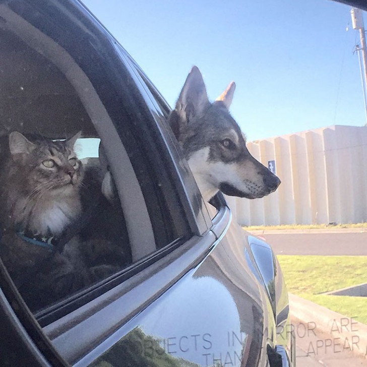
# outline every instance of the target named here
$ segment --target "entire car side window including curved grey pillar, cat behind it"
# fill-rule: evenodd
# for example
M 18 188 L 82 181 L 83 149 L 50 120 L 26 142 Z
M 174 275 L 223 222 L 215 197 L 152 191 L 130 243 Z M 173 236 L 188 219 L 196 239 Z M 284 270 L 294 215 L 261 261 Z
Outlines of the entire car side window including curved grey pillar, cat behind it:
M 83 69 L 24 19 L 4 16 L 0 256 L 29 309 L 57 317 L 60 305 L 80 305 L 192 236 L 193 225 L 162 150 L 148 152 L 159 145 L 142 126 L 150 111 L 112 93 L 103 63 Z

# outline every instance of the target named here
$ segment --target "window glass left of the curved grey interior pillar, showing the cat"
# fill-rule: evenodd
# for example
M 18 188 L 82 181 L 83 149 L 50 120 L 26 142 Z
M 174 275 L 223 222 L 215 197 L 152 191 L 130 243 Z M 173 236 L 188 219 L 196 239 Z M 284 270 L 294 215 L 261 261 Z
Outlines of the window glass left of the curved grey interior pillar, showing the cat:
M 133 260 L 108 142 L 52 63 L 10 32 L 2 39 L 18 47 L 7 53 L 7 75 L 20 62 L 24 72 L 2 82 L 0 254 L 38 311 Z

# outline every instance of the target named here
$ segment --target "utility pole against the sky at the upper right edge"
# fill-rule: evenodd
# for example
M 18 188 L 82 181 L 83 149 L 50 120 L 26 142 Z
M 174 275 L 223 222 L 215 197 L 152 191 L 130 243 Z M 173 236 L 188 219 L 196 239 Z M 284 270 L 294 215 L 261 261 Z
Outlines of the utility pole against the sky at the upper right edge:
M 366 115 L 366 126 L 367 126 L 367 101 L 366 101 L 366 95 L 365 95 L 366 87 L 367 87 L 367 48 L 366 48 L 366 43 L 365 43 L 363 15 L 362 15 L 362 11 L 357 8 L 353 8 L 350 11 L 350 14 L 352 16 L 353 29 L 357 29 L 359 31 L 359 37 L 360 37 L 361 46 L 357 45 L 356 50 L 358 52 L 358 58 L 359 58 L 359 67 L 360 67 L 362 87 L 363 87 L 364 110 L 365 110 L 365 115 Z M 360 54 L 362 54 L 363 70 L 362 70 L 362 65 L 360 61 Z

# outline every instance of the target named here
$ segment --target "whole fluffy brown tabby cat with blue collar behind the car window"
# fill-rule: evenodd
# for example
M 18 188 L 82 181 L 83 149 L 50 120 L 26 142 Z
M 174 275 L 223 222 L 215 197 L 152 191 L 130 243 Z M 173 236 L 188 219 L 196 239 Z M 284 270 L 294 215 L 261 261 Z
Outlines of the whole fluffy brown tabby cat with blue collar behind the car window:
M 88 277 L 57 249 L 57 237 L 81 215 L 84 168 L 74 151 L 80 136 L 52 141 L 12 132 L 1 147 L 0 255 L 31 309 L 83 287 Z

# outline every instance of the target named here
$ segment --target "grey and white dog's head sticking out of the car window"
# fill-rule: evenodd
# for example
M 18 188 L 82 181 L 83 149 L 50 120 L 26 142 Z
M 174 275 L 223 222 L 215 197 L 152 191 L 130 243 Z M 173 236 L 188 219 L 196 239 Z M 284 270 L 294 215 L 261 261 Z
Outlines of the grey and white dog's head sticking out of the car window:
M 240 198 L 262 198 L 273 193 L 280 179 L 258 162 L 229 113 L 235 83 L 209 102 L 197 67 L 189 73 L 169 125 L 206 202 L 218 192 Z

